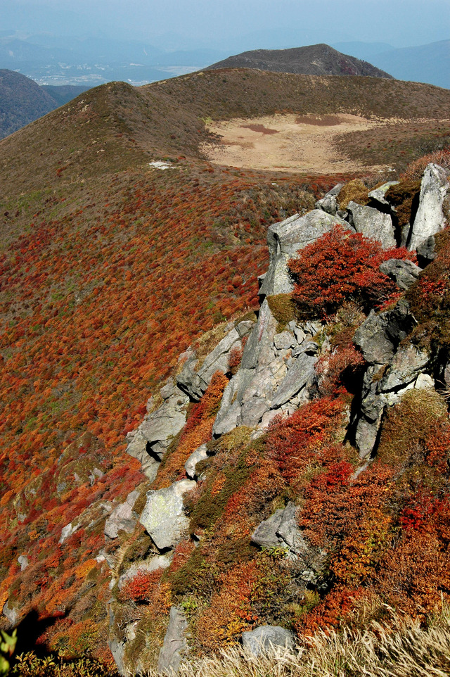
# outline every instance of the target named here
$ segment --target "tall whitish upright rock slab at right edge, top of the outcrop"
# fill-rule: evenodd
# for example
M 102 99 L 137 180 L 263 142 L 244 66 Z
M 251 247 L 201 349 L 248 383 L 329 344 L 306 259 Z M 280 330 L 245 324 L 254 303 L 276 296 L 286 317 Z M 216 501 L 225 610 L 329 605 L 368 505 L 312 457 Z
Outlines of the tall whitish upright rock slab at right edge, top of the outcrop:
M 411 229 L 410 250 L 417 249 L 431 235 L 444 228 L 442 205 L 449 189 L 449 175 L 443 167 L 430 163 L 423 172 L 419 206 Z

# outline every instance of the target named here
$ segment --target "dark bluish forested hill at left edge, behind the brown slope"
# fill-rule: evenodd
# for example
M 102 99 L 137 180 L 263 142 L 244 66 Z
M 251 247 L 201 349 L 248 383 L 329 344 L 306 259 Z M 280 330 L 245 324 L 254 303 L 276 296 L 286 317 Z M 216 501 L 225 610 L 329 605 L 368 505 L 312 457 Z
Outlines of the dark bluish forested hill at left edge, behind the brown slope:
M 86 87 L 39 87 L 29 77 L 0 70 L 0 139 L 63 106 Z

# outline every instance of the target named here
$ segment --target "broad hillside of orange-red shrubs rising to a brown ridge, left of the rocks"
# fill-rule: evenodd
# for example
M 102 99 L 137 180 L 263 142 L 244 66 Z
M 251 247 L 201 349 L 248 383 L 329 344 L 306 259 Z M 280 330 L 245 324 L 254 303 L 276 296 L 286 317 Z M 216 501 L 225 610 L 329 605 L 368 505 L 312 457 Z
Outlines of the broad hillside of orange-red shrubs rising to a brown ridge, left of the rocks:
M 391 89 L 360 110 L 374 82 Z M 124 435 L 188 343 L 255 303 L 268 225 L 314 201 L 302 190 L 312 177 L 203 163 L 200 118 L 383 115 L 401 91 L 399 117 L 423 113 L 419 94 L 429 115 L 450 117 L 444 90 L 364 78 L 354 87 L 234 70 L 138 90 L 112 83 L 1 142 L 0 603 L 59 617 L 42 635 L 53 648 L 108 657 L 108 569 L 94 559 L 101 502 L 143 479 L 124 458 Z M 148 169 L 165 156 L 174 170 Z M 91 486 L 94 467 L 104 475 Z M 62 527 L 86 508 L 84 526 L 59 547 Z

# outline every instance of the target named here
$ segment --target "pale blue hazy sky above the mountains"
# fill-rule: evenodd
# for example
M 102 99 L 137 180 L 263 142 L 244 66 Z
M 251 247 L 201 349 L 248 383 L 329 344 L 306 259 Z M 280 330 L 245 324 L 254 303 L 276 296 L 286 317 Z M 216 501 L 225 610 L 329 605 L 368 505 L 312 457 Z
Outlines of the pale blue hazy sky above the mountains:
M 450 0 L 0 0 L 0 9 L 3 30 L 167 40 L 170 49 L 450 38 Z

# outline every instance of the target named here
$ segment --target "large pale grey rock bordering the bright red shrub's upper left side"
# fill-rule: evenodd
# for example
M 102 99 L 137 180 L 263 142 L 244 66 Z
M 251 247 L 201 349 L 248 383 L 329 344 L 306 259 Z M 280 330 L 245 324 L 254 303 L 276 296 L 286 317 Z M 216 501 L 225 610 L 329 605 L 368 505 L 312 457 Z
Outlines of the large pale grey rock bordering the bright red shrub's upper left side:
M 302 217 L 295 214 L 269 227 L 267 233 L 269 270 L 264 276 L 259 294 L 271 296 L 292 291 L 293 283 L 286 265 L 288 260 L 293 258 L 299 249 L 330 231 L 336 223 L 340 223 L 346 229 L 352 229 L 340 217 L 331 216 L 320 209 L 314 209 Z

